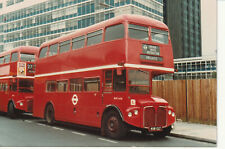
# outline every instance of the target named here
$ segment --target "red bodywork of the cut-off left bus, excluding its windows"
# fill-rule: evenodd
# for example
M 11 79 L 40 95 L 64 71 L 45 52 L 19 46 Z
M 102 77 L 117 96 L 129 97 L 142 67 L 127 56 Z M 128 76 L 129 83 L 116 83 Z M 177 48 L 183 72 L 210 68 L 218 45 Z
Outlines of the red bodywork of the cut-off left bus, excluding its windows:
M 18 53 L 18 59 L 13 62 L 11 62 L 12 53 Z M 9 62 L 0 64 L 0 111 L 7 112 L 11 101 L 17 110 L 24 112 L 33 110 L 33 93 L 20 88 L 19 82 L 34 80 L 35 62 L 21 60 L 21 53 L 34 54 L 36 59 L 38 47 L 21 46 L 0 54 L 0 58 L 10 56 Z

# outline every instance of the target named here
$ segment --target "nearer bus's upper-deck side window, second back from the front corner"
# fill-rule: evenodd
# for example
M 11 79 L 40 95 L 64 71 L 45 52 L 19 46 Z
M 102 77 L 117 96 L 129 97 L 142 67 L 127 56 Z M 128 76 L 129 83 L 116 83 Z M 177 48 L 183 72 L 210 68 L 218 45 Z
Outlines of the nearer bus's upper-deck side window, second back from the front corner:
M 87 46 L 100 43 L 102 41 L 102 30 L 87 34 Z

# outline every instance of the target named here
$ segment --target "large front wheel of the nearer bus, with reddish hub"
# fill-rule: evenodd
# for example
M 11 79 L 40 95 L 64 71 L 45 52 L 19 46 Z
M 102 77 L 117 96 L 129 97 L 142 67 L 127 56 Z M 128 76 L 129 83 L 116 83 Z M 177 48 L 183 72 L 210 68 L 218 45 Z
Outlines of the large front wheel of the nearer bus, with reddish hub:
M 127 134 L 127 126 L 118 112 L 107 112 L 103 120 L 103 126 L 105 135 L 112 139 L 121 139 Z

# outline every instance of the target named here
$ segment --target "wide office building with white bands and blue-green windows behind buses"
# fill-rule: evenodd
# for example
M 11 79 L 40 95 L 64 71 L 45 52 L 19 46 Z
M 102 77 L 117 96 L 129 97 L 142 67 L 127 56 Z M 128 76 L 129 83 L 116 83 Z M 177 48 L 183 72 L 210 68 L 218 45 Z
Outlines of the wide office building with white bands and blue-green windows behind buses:
M 24 45 L 40 46 L 45 41 L 125 13 L 163 21 L 163 1 L 40 0 L 34 4 L 30 0 L 1 0 L 0 51 Z

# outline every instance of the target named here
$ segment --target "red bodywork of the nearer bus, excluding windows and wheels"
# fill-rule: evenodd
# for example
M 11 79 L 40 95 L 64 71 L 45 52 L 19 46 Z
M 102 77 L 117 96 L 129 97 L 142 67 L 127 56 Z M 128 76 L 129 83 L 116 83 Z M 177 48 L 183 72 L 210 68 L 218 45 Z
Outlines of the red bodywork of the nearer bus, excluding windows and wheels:
M 106 27 L 122 23 L 125 28 L 125 36 L 122 39 L 104 42 Z M 144 16 L 122 15 L 102 23 L 77 30 L 76 32 L 54 39 L 41 45 L 42 48 L 49 47 L 55 43 L 90 32 L 103 29 L 103 39 L 99 44 L 85 46 L 77 50 L 70 50 L 54 56 L 39 58 L 36 63 L 34 111 L 33 115 L 44 118 L 45 108 L 51 103 L 55 111 L 55 119 L 78 123 L 88 126 L 101 127 L 102 116 L 108 108 L 117 109 L 122 119 L 130 125 L 138 128 L 152 127 L 165 128 L 175 122 L 173 108 L 164 99 L 152 96 L 151 80 L 154 76 L 174 72 L 173 53 L 170 38 L 168 44 L 160 44 L 151 41 L 132 39 L 128 36 L 128 24 L 147 26 L 149 30 L 154 27 L 168 31 L 168 27 L 159 21 Z M 149 37 L 151 37 L 149 33 Z M 87 43 L 87 38 L 85 38 Z M 160 47 L 160 56 L 163 61 L 150 61 L 140 59 L 143 54 L 142 45 L 149 44 Z M 71 47 L 71 44 L 70 44 Z M 146 54 L 147 55 L 147 54 Z M 126 73 L 126 90 L 105 91 L 104 72 L 116 70 L 118 75 L 126 70 L 143 70 L 149 72 L 150 89 L 148 94 L 129 93 L 128 73 Z M 70 91 L 71 78 L 99 78 L 99 91 Z M 67 81 L 65 92 L 47 92 L 46 82 Z M 83 82 L 84 84 L 84 82 Z M 76 99 L 76 104 L 73 104 Z M 134 111 L 138 110 L 135 115 Z M 132 116 L 129 117 L 128 113 Z M 160 130 L 158 130 L 160 131 Z

